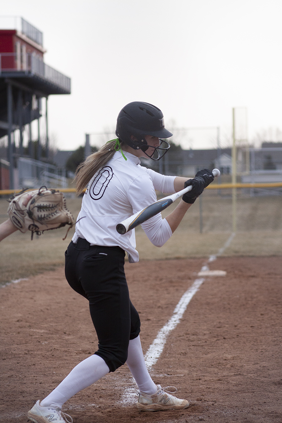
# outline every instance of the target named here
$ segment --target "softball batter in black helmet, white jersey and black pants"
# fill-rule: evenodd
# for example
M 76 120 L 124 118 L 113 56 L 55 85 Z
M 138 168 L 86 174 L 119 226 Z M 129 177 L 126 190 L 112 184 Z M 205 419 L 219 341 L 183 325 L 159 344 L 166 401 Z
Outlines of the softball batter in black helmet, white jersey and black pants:
M 155 190 L 171 193 L 192 184 L 193 189 L 165 219 L 157 214 L 142 224 L 150 241 L 161 247 L 184 214 L 213 179 L 200 171 L 194 179 L 163 176 L 140 166 L 140 157 L 160 159 L 170 147 L 172 133 L 164 128 L 161 110 L 132 102 L 119 113 L 117 139 L 91 154 L 77 172 L 77 192 L 85 185 L 76 232 L 66 251 L 66 279 L 89 301 L 98 335 L 98 350 L 79 363 L 46 398 L 28 412 L 34 423 L 71 421 L 60 410 L 73 395 L 126 363 L 139 388 L 137 408 L 144 411 L 185 409 L 189 402 L 156 385 L 145 365 L 139 337 L 140 319 L 129 299 L 124 257 L 136 263 L 134 230 L 125 235 L 116 225 L 156 201 Z M 68 420 L 70 418 L 71 420 Z

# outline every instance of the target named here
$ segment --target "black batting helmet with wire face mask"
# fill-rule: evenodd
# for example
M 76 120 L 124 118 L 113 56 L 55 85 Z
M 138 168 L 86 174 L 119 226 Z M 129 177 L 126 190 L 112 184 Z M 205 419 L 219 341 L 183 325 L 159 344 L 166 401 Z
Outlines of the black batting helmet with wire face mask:
M 120 111 L 117 119 L 115 134 L 118 138 L 134 150 L 141 149 L 150 159 L 159 160 L 170 148 L 169 143 L 160 140 L 160 146 L 148 145 L 145 135 L 158 138 L 168 138 L 172 133 L 164 128 L 162 111 L 150 103 L 132 102 L 126 104 Z M 147 154 L 149 147 L 153 153 Z

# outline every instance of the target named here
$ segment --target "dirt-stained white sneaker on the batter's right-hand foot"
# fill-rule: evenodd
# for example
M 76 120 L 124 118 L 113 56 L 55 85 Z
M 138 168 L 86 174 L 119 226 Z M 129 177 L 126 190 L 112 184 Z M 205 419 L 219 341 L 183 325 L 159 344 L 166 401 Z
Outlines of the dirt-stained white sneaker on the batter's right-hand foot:
M 143 392 L 139 393 L 137 408 L 142 411 L 157 411 L 157 410 L 181 410 L 189 407 L 189 401 L 186 399 L 178 399 L 171 394 L 177 393 L 175 386 L 167 386 L 162 388 L 157 385 L 157 392 L 153 395 L 147 395 Z M 168 389 L 173 389 L 170 391 Z

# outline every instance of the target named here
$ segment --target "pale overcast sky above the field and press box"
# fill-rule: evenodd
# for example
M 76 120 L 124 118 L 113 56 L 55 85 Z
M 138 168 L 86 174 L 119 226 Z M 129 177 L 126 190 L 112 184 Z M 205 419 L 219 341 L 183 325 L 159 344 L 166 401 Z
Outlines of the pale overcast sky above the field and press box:
M 44 61 L 71 77 L 71 95 L 49 97 L 61 150 L 112 129 L 137 100 L 168 129 L 219 126 L 222 144 L 233 107 L 247 108 L 250 140 L 282 129 L 281 0 L 13 0 L 1 15 L 41 30 Z M 215 129 L 195 132 L 178 137 L 184 147 L 215 146 Z

